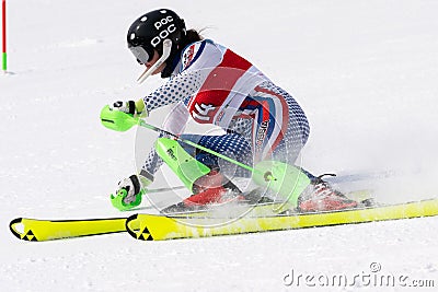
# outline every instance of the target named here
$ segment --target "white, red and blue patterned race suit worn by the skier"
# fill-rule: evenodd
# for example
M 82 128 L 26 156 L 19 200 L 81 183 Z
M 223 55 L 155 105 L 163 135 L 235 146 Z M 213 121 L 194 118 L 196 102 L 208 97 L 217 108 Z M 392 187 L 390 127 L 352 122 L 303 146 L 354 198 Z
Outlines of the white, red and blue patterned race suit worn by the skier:
M 185 139 L 249 165 L 262 160 L 295 163 L 308 140 L 309 124 L 291 95 L 247 60 L 209 39 L 187 46 L 177 61 L 173 77 L 143 98 L 148 112 L 174 104 L 163 124 L 165 130 L 182 135 L 192 117 L 219 126 L 224 133 L 182 135 Z M 183 147 L 226 175 L 250 175 L 211 154 Z M 152 150 L 141 173 L 153 178 L 161 164 Z

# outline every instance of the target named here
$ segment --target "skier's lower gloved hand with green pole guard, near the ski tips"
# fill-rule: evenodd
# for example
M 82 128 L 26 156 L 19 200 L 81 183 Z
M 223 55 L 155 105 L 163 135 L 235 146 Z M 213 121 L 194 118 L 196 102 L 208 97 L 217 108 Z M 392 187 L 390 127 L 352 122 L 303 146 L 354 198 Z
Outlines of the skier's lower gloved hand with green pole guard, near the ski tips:
M 131 175 L 117 185 L 116 196 L 111 195 L 112 205 L 120 211 L 127 211 L 141 203 L 141 196 L 152 182 L 141 175 Z

